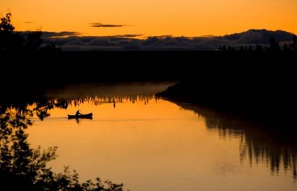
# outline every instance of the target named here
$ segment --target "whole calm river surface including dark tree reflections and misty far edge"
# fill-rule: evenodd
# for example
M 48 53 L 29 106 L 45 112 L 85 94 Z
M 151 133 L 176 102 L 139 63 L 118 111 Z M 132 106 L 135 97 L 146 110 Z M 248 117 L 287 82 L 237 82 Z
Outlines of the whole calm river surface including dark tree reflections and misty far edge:
M 36 148 L 81 180 L 97 176 L 129 190 L 297 190 L 296 140 L 195 105 L 156 100 L 168 83 L 85 85 L 49 97 L 69 107 L 28 129 Z M 76 110 L 93 120 L 68 120 Z M 281 137 L 281 138 L 280 138 Z

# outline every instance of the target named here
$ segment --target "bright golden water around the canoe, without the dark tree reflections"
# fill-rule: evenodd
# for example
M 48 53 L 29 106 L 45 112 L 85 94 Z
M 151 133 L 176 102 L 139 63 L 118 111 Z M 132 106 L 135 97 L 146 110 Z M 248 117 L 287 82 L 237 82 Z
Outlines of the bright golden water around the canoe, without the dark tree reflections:
M 66 115 L 93 112 L 93 120 Z M 50 110 L 28 130 L 33 146 L 58 146 L 55 172 L 70 166 L 81 180 L 99 176 L 129 190 L 294 190 L 290 173 L 240 160 L 240 136 L 209 131 L 204 117 L 166 100 L 81 103 Z M 252 184 L 250 184 L 252 182 Z

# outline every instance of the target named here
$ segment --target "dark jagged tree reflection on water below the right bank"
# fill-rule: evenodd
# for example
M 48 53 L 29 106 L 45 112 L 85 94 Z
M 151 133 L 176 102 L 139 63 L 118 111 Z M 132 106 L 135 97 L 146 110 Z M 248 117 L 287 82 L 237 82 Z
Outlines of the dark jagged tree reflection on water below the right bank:
M 297 139 L 293 127 L 267 127 L 197 105 L 177 105 L 205 117 L 206 127 L 219 132 L 221 138 L 240 137 L 240 161 L 248 158 L 251 164 L 267 163 L 276 175 L 282 166 L 297 180 Z

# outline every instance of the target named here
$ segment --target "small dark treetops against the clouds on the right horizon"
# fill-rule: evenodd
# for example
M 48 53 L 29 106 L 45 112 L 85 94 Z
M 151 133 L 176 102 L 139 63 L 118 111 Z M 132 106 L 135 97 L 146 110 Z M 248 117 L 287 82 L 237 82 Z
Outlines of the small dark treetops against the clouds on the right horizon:
M 287 45 L 286 43 L 284 44 L 284 47 L 281 48 L 281 46 L 279 45 L 279 42 L 276 41 L 276 39 L 274 37 L 271 37 L 269 40 L 269 46 L 266 45 L 256 45 L 256 46 L 240 46 L 239 49 L 236 49 L 235 47 L 232 46 L 226 46 L 224 45 L 223 47 L 220 47 L 219 50 L 223 51 L 223 52 L 235 52 L 235 51 L 239 51 L 239 52 L 263 52 L 263 51 L 268 51 L 268 52 L 280 52 L 280 51 L 284 51 L 284 52 L 288 52 L 288 51 L 297 51 L 297 36 L 293 35 L 292 37 L 292 43 L 290 45 Z

